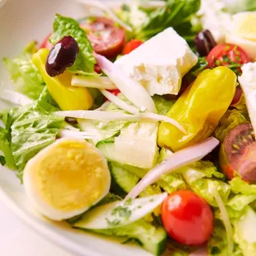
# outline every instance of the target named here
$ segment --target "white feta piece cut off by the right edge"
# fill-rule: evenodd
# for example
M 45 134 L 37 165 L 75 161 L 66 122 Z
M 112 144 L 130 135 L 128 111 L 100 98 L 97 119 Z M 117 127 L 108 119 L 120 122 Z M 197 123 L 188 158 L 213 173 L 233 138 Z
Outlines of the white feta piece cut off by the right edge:
M 244 64 L 242 71 L 239 83 L 243 88 L 249 117 L 256 132 L 256 63 Z

